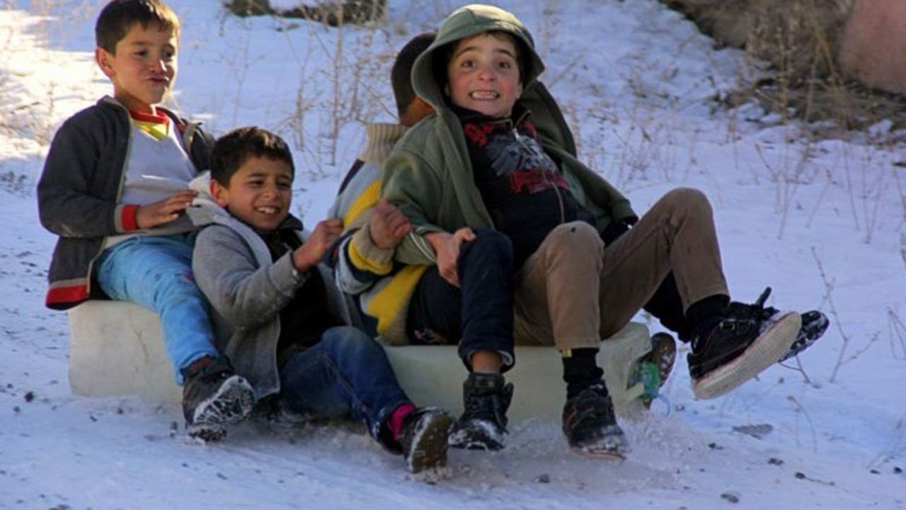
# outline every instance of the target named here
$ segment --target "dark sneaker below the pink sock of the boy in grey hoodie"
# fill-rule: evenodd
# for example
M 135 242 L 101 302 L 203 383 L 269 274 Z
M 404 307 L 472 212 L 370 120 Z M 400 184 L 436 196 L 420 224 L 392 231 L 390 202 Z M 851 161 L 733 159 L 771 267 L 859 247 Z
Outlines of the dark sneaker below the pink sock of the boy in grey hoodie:
M 412 473 L 447 466 L 447 440 L 453 417 L 438 407 L 421 407 L 403 417 L 400 446 Z

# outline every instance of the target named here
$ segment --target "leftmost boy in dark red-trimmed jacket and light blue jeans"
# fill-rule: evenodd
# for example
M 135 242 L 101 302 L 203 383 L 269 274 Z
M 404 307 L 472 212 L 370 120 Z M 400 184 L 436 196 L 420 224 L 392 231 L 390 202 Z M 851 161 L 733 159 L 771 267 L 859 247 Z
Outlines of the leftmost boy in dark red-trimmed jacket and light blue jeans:
M 158 106 L 176 80 L 179 20 L 159 0 L 114 0 L 95 34 L 113 97 L 63 123 L 38 182 L 41 222 L 60 237 L 47 306 L 119 299 L 158 313 L 188 433 L 217 439 L 249 414 L 252 391 L 218 353 L 192 277 L 188 182 L 211 142 Z

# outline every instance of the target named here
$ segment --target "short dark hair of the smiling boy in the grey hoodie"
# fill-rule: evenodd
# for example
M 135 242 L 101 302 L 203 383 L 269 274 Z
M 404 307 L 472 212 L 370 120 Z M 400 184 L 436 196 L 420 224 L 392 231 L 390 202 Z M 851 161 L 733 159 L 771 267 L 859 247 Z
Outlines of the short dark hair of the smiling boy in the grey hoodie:
M 249 158 L 285 162 L 295 174 L 293 153 L 283 138 L 256 126 L 246 126 L 226 132 L 214 142 L 211 179 L 228 188 L 230 178 Z

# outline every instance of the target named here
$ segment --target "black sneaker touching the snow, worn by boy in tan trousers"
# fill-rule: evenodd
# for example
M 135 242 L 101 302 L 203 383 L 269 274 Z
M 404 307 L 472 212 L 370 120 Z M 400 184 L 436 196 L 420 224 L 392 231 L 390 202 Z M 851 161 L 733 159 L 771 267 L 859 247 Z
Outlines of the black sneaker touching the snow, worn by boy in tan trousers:
M 566 442 L 579 455 L 623 459 L 629 449 L 603 384 L 587 387 L 566 401 L 563 427 Z

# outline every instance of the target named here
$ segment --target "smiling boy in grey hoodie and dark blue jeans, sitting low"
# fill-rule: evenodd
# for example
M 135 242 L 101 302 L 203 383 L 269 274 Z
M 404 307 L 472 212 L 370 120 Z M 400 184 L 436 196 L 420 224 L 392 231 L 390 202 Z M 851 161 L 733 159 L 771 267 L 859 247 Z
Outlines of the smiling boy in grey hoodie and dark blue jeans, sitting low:
M 239 128 L 214 145 L 216 206 L 190 214 L 209 224 L 198 234 L 193 268 L 217 311 L 224 351 L 259 400 L 273 395 L 298 413 L 352 416 L 403 454 L 411 471 L 444 466 L 452 418 L 415 407 L 383 348 L 344 326 L 349 312 L 320 264 L 342 221 L 320 221 L 304 238 L 289 213 L 293 178 L 289 147 L 271 132 Z

